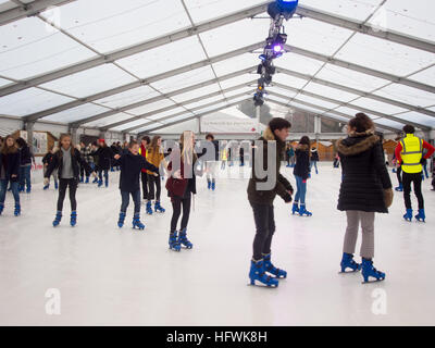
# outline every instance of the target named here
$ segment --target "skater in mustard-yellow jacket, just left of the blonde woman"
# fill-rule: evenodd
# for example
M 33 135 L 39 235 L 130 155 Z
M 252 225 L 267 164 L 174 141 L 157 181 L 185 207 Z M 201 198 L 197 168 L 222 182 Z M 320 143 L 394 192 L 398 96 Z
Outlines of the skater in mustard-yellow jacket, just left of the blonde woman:
M 166 167 L 167 164 L 164 160 L 164 153 L 162 149 L 162 138 L 154 136 L 147 149 L 147 161 L 158 169 L 163 163 Z M 152 200 L 154 200 L 154 212 L 164 213 L 165 210 L 160 204 L 160 196 L 162 192 L 162 185 L 160 175 L 156 176 L 151 171 L 147 171 L 148 182 L 148 201 L 147 201 L 147 214 L 152 215 Z

